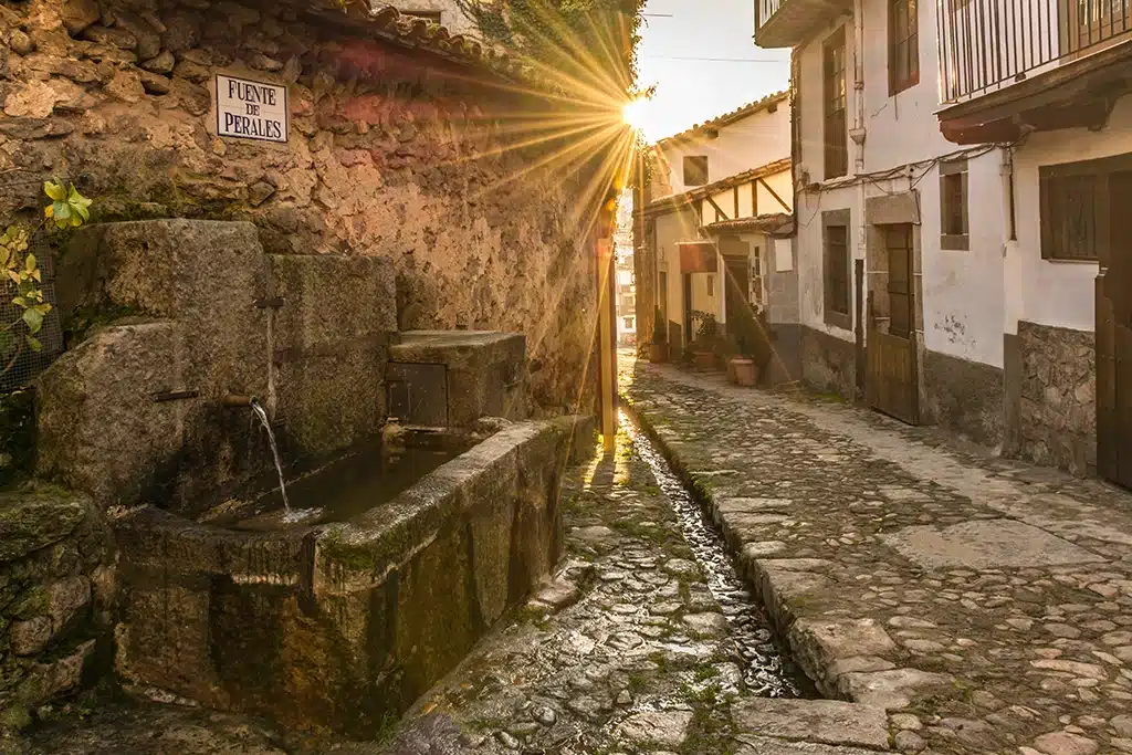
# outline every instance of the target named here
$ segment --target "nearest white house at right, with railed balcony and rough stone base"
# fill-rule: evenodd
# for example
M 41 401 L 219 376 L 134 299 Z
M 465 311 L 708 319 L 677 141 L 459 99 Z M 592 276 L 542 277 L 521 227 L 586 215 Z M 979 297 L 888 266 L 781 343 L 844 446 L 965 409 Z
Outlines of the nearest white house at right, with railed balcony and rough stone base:
M 1007 448 L 1132 487 L 1132 0 L 941 0 L 936 23 L 941 130 L 1011 145 Z

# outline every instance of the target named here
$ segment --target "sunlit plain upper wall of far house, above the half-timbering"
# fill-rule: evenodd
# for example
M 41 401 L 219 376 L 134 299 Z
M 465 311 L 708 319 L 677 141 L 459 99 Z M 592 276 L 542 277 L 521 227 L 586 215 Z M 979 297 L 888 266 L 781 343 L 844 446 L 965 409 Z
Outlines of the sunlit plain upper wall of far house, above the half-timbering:
M 658 170 L 667 172 L 669 190 L 654 194 L 654 199 L 696 188 L 684 185 L 685 155 L 707 155 L 709 182 L 789 157 L 790 103 L 783 101 L 778 103 L 773 113 L 761 110 L 729 123 L 719 129 L 718 138 L 697 135 L 677 141 L 662 141 L 659 147 L 662 158 Z M 660 187 L 654 190 L 660 190 Z M 731 204 L 728 201 L 720 206 L 727 211 Z

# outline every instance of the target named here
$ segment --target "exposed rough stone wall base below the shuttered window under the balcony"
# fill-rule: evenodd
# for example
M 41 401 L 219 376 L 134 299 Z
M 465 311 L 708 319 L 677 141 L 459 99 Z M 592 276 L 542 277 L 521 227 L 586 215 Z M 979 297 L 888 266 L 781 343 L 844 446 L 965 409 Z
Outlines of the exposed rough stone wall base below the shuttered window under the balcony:
M 1018 324 L 1021 352 L 1018 428 L 1021 458 L 1074 474 L 1097 467 L 1097 369 L 1092 333 Z M 1010 386 L 1007 386 L 1010 393 Z

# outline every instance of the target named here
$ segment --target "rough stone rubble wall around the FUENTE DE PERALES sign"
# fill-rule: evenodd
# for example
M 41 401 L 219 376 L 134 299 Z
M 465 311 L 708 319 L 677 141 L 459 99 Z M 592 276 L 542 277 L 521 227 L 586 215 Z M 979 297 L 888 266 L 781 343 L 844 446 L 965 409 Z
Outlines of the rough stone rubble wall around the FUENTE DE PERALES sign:
M 63 174 L 95 220 L 248 220 L 268 254 L 387 258 L 402 329 L 522 332 L 538 407 L 574 409 L 595 315 L 588 177 L 539 168 L 557 143 L 509 148 L 551 105 L 312 8 L 0 2 L 0 216 L 31 215 Z M 290 144 L 217 138 L 216 72 L 285 84 Z

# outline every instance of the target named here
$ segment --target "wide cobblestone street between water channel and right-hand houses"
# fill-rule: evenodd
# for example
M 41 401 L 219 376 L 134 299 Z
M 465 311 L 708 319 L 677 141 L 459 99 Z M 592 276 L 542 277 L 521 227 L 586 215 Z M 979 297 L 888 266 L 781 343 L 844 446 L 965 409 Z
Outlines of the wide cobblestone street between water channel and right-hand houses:
M 1132 753 L 1132 497 L 843 404 L 621 378 L 796 660 L 891 746 Z

